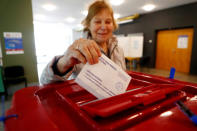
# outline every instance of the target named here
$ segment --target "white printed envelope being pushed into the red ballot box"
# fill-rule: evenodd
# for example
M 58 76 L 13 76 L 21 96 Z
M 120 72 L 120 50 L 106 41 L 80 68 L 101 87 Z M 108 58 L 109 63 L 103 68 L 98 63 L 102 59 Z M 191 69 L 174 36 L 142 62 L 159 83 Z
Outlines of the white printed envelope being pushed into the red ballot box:
M 126 92 L 131 77 L 113 61 L 102 55 L 94 65 L 86 63 L 75 81 L 98 99 Z

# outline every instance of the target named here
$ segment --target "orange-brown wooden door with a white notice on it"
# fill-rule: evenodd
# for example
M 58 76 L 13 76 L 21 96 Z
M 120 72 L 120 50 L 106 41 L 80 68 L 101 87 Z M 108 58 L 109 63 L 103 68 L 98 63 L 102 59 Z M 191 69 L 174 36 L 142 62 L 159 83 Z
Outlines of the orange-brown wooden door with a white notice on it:
M 159 31 L 157 34 L 156 68 L 189 73 L 193 28 Z

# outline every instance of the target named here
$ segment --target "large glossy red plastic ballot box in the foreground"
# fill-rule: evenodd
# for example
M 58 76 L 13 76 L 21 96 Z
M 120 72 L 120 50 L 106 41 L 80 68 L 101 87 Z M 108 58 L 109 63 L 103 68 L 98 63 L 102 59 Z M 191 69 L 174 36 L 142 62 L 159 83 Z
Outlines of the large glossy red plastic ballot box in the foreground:
M 138 72 L 127 92 L 98 100 L 74 80 L 17 91 L 6 115 L 6 131 L 196 131 L 175 105 L 197 114 L 197 84 Z

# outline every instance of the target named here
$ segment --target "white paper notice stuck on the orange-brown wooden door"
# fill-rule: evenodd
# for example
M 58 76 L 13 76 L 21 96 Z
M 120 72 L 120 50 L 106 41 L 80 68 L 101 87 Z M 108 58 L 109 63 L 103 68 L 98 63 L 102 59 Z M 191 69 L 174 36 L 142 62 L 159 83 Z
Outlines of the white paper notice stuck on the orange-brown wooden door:
M 188 47 L 188 35 L 178 36 L 177 48 L 186 49 Z

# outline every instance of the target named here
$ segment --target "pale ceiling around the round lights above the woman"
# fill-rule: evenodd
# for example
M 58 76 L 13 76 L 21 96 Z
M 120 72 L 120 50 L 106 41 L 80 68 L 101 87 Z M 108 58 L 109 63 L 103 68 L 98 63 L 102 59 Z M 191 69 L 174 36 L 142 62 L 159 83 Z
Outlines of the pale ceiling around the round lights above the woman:
M 89 3 L 93 0 L 32 0 L 33 16 L 36 22 L 56 22 L 65 23 L 70 26 L 80 24 L 85 17 L 81 12 L 86 10 Z M 120 14 L 120 17 L 133 15 L 136 13 L 149 13 L 142 9 L 145 4 L 154 4 L 156 7 L 152 11 L 158 11 L 166 8 L 180 6 L 197 2 L 197 0 L 125 0 L 120 6 L 112 6 L 114 13 Z M 46 11 L 42 8 L 44 4 L 53 4 L 57 8 L 54 11 Z M 42 16 L 37 18 L 36 16 Z M 65 21 L 67 17 L 75 18 L 75 21 L 68 23 Z

